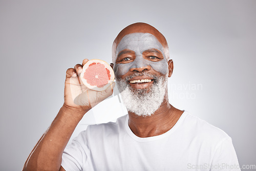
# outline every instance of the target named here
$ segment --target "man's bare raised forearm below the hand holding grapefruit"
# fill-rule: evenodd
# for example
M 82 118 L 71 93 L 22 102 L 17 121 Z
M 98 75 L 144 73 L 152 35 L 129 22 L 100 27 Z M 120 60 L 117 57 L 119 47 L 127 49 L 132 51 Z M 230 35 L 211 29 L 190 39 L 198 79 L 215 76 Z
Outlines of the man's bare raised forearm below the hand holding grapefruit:
M 62 153 L 83 114 L 62 106 L 37 142 L 23 170 L 59 170 Z

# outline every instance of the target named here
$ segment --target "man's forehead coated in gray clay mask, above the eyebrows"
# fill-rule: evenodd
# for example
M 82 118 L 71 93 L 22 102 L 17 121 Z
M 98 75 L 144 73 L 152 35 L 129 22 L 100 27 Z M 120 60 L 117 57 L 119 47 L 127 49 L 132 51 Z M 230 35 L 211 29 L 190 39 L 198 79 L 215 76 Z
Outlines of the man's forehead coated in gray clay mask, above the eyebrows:
M 130 49 L 140 53 L 148 49 L 158 49 L 163 53 L 163 46 L 150 33 L 131 33 L 125 35 L 116 48 L 117 54 L 124 49 Z

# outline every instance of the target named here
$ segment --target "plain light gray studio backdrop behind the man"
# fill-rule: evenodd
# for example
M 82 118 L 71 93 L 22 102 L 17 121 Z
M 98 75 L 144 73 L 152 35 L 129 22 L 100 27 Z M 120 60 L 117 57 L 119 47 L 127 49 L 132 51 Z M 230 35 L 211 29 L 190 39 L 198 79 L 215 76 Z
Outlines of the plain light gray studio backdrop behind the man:
M 63 103 L 66 70 L 83 58 L 110 63 L 114 38 L 135 22 L 168 41 L 170 103 L 220 127 L 240 164 L 255 165 L 255 18 L 256 1 L 248 0 L 0 1 L 1 170 L 22 169 Z M 188 89 L 194 84 L 202 88 Z M 111 114 L 115 97 L 79 129 L 122 115 Z

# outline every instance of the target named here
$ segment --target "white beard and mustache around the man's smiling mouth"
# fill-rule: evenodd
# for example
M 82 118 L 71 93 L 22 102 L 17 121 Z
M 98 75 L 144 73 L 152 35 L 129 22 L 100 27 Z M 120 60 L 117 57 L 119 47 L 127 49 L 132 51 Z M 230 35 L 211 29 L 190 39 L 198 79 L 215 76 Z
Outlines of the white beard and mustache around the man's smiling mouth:
M 149 76 L 154 78 L 153 85 L 148 89 L 133 89 L 127 83 L 136 76 Z M 117 79 L 117 87 L 127 110 L 138 116 L 151 116 L 159 109 L 167 90 L 168 76 L 156 77 L 146 73 L 135 73 L 125 79 Z

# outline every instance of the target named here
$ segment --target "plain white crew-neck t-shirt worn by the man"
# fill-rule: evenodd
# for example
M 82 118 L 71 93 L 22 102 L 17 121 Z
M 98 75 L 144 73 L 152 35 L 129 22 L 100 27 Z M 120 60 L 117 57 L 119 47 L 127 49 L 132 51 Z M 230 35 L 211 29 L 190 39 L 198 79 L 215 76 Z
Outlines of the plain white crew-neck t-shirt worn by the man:
M 184 112 L 172 129 L 137 137 L 129 116 L 88 126 L 67 145 L 61 166 L 69 170 L 240 170 L 231 138 Z

